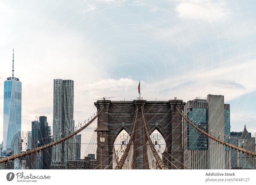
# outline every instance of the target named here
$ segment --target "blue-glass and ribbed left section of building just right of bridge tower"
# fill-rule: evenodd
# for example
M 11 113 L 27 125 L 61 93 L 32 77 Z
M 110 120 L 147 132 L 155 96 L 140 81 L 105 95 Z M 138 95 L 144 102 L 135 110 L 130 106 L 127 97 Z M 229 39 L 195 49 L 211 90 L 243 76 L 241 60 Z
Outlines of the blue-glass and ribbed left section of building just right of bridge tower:
M 203 99 L 188 101 L 184 106 L 184 115 L 199 128 L 208 132 L 207 102 Z M 186 120 L 183 123 L 184 164 L 191 169 L 208 169 L 208 139 Z

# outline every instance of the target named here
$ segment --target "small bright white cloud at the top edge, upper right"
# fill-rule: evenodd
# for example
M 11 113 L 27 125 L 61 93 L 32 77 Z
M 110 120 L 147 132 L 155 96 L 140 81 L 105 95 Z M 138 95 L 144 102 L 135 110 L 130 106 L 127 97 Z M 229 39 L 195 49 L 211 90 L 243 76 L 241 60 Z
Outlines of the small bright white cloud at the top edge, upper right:
M 216 21 L 227 16 L 224 4 L 217 4 L 212 0 L 180 1 L 175 11 L 185 19 Z

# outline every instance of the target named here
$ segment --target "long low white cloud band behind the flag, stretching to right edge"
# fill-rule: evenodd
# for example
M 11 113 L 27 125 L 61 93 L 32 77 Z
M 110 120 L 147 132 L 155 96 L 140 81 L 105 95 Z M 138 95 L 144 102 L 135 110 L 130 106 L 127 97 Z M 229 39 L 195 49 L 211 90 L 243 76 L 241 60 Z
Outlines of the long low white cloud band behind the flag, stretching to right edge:
M 224 95 L 225 102 L 236 99 L 256 90 L 256 83 L 248 81 L 254 78 L 253 70 L 256 62 L 241 63 L 230 66 L 191 71 L 186 69 L 184 75 L 154 82 L 141 82 L 141 96 L 144 99 L 173 99 L 176 96 L 183 101 L 194 99 L 196 96 L 208 94 Z M 244 71 L 247 71 L 246 74 Z M 83 89 L 92 100 L 106 96 L 108 99 L 135 99 L 138 95 L 138 81 L 131 77 L 103 79 L 93 82 Z M 83 90 L 82 90 L 83 91 Z

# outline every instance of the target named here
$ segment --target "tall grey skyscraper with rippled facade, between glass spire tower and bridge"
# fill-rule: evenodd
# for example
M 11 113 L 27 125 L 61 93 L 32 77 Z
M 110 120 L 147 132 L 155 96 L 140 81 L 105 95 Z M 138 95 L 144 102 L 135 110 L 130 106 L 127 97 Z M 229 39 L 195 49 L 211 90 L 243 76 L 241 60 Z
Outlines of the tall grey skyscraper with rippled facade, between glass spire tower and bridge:
M 74 81 L 54 79 L 53 85 L 53 141 L 74 132 Z M 74 138 L 52 149 L 52 164 L 62 162 L 67 168 L 67 161 L 75 159 Z

